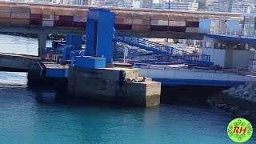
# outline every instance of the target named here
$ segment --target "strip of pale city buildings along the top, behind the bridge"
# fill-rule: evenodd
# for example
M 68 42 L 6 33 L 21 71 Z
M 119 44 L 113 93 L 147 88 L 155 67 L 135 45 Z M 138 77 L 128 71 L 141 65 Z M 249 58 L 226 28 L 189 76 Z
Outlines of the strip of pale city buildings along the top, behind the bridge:
M 56 3 L 63 5 L 114 6 L 158 10 L 256 13 L 256 0 L 2 0 L 6 2 Z

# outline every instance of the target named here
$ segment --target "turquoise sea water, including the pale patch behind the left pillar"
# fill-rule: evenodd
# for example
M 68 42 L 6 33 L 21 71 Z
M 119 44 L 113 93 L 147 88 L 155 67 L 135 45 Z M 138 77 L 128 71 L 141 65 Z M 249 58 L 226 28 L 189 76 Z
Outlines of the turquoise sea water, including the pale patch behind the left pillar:
M 16 39 L 0 38 L 6 47 Z M 30 44 L 10 50 L 37 54 L 27 47 L 37 46 L 35 39 L 21 41 Z M 26 73 L 0 72 L 0 143 L 233 143 L 226 134 L 233 117 L 222 110 L 184 103 L 134 108 L 63 97 L 28 88 Z M 247 143 L 256 143 L 255 126 Z

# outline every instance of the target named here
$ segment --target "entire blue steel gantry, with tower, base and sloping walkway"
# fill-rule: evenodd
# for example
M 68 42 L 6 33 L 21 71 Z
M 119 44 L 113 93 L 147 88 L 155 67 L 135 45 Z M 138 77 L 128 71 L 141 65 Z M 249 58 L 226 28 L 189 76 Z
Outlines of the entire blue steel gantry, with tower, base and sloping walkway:
M 122 42 L 138 49 L 147 50 L 159 57 L 169 57 L 181 59 L 187 64 L 196 64 L 197 66 L 211 66 L 210 55 L 190 54 L 184 50 L 178 50 L 174 47 L 165 46 L 156 42 L 150 42 L 144 38 L 133 37 L 114 30 L 115 15 L 106 9 L 90 9 L 86 15 L 86 49 L 82 50 L 82 35 L 67 34 L 66 45 L 61 46 L 57 51 L 62 51 L 62 60 L 71 63 L 74 66 L 102 68 L 110 64 L 113 59 L 118 58 L 117 42 Z M 62 44 L 63 45 L 63 44 Z M 73 47 L 70 47 L 70 45 Z M 66 50 L 69 48 L 69 50 Z M 49 51 L 49 50 L 48 50 Z M 119 50 L 120 51 L 120 50 Z M 143 55 L 143 54 L 142 54 Z M 138 57 L 140 55 L 137 55 Z M 157 60 L 156 60 L 157 61 Z M 58 60 L 57 60 L 58 62 Z M 145 61 L 146 62 L 146 61 Z

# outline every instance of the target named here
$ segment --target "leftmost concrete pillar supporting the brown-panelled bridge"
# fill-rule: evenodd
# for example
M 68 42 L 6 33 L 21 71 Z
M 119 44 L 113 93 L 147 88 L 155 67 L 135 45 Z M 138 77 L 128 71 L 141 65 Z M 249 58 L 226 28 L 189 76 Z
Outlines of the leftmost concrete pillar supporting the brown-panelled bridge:
M 47 40 L 47 34 L 44 34 L 44 33 L 38 34 L 38 56 L 41 59 L 46 58 L 46 40 Z

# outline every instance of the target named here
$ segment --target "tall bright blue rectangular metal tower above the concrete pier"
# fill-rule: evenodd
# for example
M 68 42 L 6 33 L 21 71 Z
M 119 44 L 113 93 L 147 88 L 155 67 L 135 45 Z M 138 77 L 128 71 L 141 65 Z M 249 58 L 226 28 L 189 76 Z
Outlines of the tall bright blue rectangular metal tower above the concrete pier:
M 86 55 L 106 58 L 112 62 L 112 42 L 115 17 L 105 9 L 90 9 L 86 20 Z

